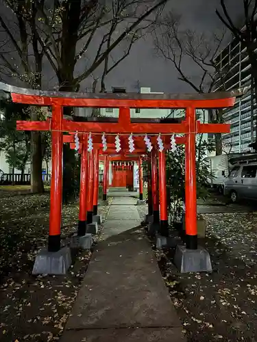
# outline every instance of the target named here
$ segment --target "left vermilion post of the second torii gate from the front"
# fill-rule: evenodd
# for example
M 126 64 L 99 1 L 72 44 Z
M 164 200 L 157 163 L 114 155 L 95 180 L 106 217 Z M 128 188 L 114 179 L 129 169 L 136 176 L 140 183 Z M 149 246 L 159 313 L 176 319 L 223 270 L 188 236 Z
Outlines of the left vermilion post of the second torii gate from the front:
M 87 135 L 82 137 L 82 154 L 80 165 L 80 189 L 79 189 L 79 222 L 77 225 L 77 236 L 86 234 L 86 196 L 88 186 L 88 146 Z

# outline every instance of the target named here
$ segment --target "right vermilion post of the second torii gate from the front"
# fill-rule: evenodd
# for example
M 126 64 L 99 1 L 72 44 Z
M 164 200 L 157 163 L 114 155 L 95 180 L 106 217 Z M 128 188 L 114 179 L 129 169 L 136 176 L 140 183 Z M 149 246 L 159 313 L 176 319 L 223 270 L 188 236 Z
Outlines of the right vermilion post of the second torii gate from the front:
M 169 236 L 165 151 L 159 151 L 160 234 Z

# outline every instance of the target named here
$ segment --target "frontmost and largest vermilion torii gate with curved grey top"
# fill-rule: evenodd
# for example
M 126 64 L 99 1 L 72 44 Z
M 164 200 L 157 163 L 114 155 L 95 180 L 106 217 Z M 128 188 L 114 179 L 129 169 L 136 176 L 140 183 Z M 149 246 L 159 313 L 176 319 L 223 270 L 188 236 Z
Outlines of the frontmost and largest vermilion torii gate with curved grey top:
M 60 224 L 62 212 L 62 145 L 63 133 L 78 131 L 93 135 L 99 133 L 121 135 L 145 134 L 171 135 L 185 134 L 186 146 L 186 248 L 197 250 L 197 196 L 195 175 L 195 135 L 197 133 L 229 133 L 229 124 L 201 124 L 196 120 L 196 109 L 214 109 L 232 107 L 235 96 L 241 95 L 242 90 L 231 92 L 217 92 L 210 94 L 79 94 L 69 92 L 44 92 L 27 90 L 8 86 L 12 94 L 12 101 L 28 105 L 52 107 L 51 120 L 47 121 L 18 121 L 17 129 L 27 131 L 51 131 L 52 137 L 52 174 L 51 174 L 51 204 L 49 218 L 49 252 L 60 250 Z M 244 91 L 244 90 L 243 90 Z M 119 108 L 118 122 L 73 122 L 64 120 L 62 109 L 72 107 L 116 107 Z M 130 108 L 183 108 L 186 109 L 186 118 L 180 123 L 133 123 L 130 120 Z M 83 149 L 83 151 L 85 148 Z M 160 186 L 163 186 L 164 151 L 160 157 Z M 86 153 L 82 158 L 86 159 Z M 152 175 L 156 177 L 156 158 L 151 153 Z M 89 172 L 93 172 L 89 164 Z M 153 170 L 154 169 L 154 170 Z M 82 181 L 83 183 L 84 181 Z M 85 183 L 85 182 L 84 182 Z M 83 183 L 83 184 L 84 184 Z M 152 179 L 151 187 L 157 186 L 157 180 Z M 156 194 L 156 192 L 153 192 Z M 154 210 L 156 209 L 156 199 Z M 42 256 L 41 256 L 42 257 Z M 66 257 L 62 258 L 63 260 Z M 67 259 L 67 258 L 66 258 Z M 69 259 L 69 258 L 68 258 Z M 69 262 L 67 261 L 69 264 Z M 69 265 L 68 265 L 69 266 Z

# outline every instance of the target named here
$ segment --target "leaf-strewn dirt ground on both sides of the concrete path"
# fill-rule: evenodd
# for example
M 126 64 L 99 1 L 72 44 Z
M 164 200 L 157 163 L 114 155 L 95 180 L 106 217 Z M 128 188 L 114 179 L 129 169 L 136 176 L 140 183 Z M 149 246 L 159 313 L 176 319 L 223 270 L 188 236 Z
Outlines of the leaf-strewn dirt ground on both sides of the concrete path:
M 108 207 L 101 209 L 106 215 Z M 145 207 L 138 207 L 143 218 Z M 58 341 L 91 252 L 80 252 L 67 276 L 32 276 L 46 244 L 49 194 L 0 189 L 0 341 Z M 63 208 L 62 242 L 76 230 L 78 205 Z M 156 250 L 188 342 L 257 341 L 257 215 L 204 215 L 212 274 L 180 274 L 175 250 Z

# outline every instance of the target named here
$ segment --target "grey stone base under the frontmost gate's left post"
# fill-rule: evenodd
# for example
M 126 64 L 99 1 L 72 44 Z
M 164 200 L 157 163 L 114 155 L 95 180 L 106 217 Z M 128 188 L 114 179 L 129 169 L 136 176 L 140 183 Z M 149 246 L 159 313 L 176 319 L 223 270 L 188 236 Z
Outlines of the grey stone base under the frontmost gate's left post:
M 47 248 L 36 256 L 32 274 L 66 274 L 71 266 L 71 250 L 64 247 L 58 252 L 49 252 Z

